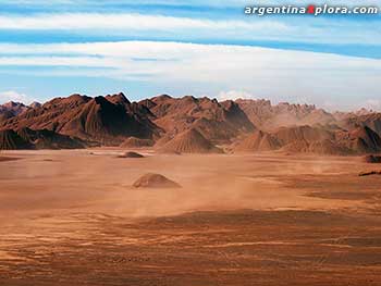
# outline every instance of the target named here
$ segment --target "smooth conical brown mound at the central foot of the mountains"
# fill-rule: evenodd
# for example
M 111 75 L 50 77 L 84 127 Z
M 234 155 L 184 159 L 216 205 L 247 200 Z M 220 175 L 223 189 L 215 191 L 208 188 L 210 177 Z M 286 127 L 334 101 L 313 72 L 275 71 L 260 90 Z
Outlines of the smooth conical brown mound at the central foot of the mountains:
M 198 130 L 189 129 L 179 134 L 160 148 L 163 152 L 221 153 L 222 150 L 207 140 Z

